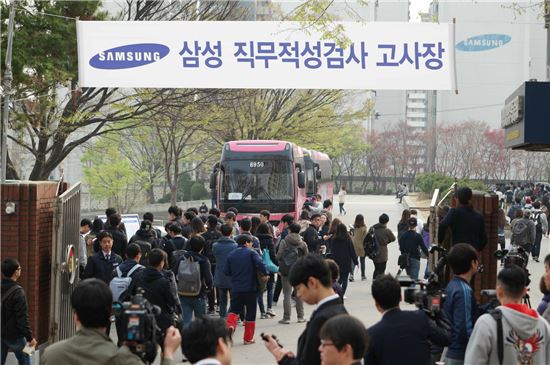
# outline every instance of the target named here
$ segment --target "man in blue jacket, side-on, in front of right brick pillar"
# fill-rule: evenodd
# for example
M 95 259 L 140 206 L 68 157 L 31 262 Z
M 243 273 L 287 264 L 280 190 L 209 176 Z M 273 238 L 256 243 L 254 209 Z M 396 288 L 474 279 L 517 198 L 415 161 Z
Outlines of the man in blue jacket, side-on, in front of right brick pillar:
M 445 364 L 462 365 L 478 316 L 478 305 L 470 286 L 479 266 L 477 251 L 467 243 L 456 244 L 447 254 L 447 265 L 454 276 L 447 285 L 443 303 L 443 310 L 451 322 L 451 343 L 447 348 Z

